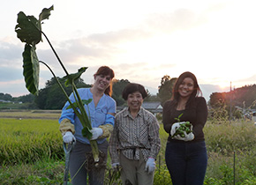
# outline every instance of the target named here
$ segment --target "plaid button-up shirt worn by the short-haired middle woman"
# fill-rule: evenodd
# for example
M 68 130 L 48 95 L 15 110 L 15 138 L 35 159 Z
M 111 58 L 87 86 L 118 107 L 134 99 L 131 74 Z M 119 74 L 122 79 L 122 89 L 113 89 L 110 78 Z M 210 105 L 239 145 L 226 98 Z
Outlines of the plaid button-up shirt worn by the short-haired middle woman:
M 109 139 L 112 163 L 119 162 L 118 152 L 122 152 L 127 159 L 139 160 L 139 152 L 142 152 L 145 161 L 149 157 L 156 159 L 160 147 L 159 123 L 152 113 L 140 107 L 138 115 L 133 118 L 125 107 L 116 115 Z

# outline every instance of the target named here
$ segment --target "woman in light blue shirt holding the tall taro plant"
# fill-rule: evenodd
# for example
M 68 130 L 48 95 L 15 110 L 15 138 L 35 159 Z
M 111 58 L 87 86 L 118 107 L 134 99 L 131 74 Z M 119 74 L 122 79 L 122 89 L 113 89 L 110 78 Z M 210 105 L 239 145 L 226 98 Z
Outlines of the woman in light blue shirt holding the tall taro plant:
M 106 163 L 108 153 L 106 137 L 109 137 L 113 130 L 117 107 L 116 101 L 110 97 L 114 76 L 113 70 L 107 66 L 102 66 L 94 74 L 94 85 L 92 88 L 78 89 L 82 100 L 92 99 L 88 107 L 85 105 L 85 108 L 93 127 L 91 139 L 97 140 L 98 148 L 103 156 L 103 163 Z M 73 94 L 70 99 L 72 102 L 75 101 Z M 87 184 L 88 174 L 89 184 L 101 185 L 104 181 L 105 167 L 92 168 L 90 170 L 85 167 L 85 161 L 89 160 L 86 153 L 91 152 L 91 146 L 88 139 L 82 136 L 81 130 L 83 126 L 79 118 L 74 114 L 72 108 L 66 109 L 69 105 L 69 102 L 66 102 L 63 107 L 62 115 L 59 119 L 59 130 L 63 134 L 64 143 L 71 143 L 72 140 L 76 140 L 76 144 L 70 153 L 72 184 Z

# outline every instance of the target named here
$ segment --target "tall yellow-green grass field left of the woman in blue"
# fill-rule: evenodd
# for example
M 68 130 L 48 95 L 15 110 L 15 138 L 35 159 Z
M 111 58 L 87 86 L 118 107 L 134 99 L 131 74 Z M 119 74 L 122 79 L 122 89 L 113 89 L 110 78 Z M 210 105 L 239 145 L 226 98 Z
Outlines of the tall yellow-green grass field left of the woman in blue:
M 62 137 L 52 120 L 0 120 L 0 164 L 62 159 Z

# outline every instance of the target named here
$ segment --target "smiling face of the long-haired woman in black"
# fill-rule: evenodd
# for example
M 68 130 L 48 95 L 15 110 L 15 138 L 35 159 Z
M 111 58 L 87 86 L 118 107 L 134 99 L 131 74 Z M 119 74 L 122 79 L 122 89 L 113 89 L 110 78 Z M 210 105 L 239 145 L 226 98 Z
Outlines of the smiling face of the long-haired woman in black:
M 189 98 L 194 90 L 194 81 L 192 78 L 184 78 L 178 86 L 178 93 L 182 98 Z

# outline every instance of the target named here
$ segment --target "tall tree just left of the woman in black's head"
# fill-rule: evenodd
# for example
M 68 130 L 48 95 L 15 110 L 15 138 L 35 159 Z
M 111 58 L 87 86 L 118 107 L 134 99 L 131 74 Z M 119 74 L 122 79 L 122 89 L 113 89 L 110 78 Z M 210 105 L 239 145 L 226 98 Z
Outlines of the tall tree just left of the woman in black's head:
M 158 86 L 157 96 L 161 99 L 163 105 L 166 100 L 169 100 L 172 95 L 172 89 L 175 85 L 177 78 L 170 78 L 169 75 L 165 75 L 161 79 L 161 85 Z

